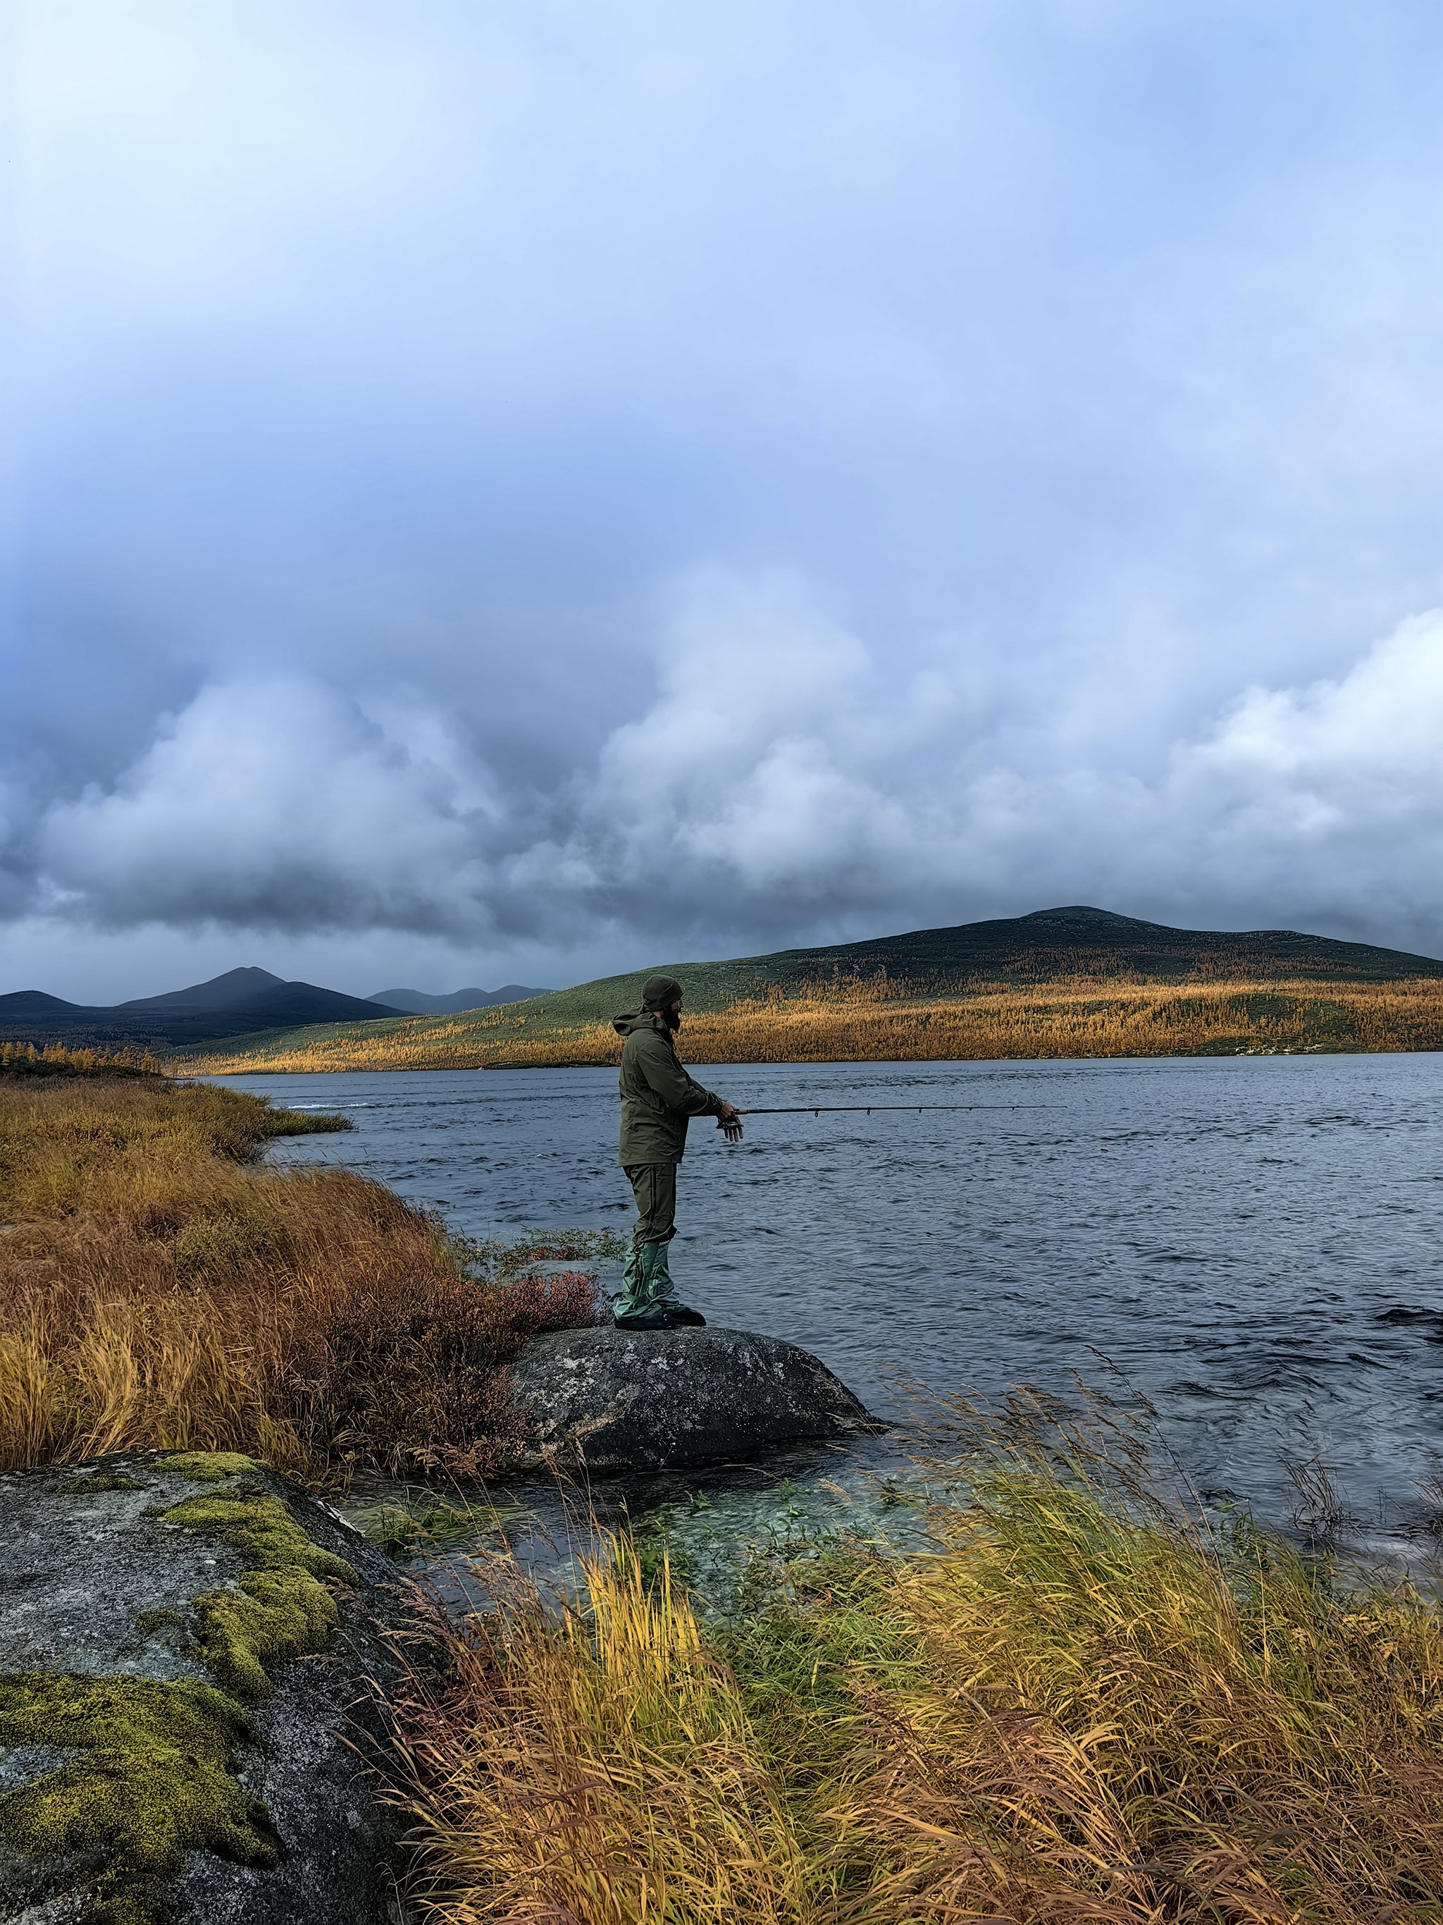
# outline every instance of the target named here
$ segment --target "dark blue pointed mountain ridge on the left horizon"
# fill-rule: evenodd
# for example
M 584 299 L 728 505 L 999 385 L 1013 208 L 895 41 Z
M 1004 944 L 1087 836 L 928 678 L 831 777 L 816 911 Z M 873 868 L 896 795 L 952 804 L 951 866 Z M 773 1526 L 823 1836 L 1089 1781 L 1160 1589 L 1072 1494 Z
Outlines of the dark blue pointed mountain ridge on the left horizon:
M 183 1049 L 260 1030 L 402 1014 L 312 982 L 283 982 L 264 968 L 233 968 L 189 989 L 115 1005 L 65 1003 L 44 989 L 15 989 L 0 995 L 0 1040 L 69 1049 Z

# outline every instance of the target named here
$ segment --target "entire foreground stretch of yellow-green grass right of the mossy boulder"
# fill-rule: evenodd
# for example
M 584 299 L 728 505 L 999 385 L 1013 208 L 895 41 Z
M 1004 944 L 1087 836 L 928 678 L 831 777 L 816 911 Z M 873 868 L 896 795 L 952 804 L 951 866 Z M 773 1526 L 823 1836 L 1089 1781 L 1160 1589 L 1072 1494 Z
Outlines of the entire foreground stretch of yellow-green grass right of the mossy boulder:
M 720 1630 L 625 1540 L 560 1623 L 493 1563 L 398 1709 L 421 1915 L 1443 1917 L 1435 1607 L 1218 1542 L 1016 1415 L 927 1555 L 762 1567 Z

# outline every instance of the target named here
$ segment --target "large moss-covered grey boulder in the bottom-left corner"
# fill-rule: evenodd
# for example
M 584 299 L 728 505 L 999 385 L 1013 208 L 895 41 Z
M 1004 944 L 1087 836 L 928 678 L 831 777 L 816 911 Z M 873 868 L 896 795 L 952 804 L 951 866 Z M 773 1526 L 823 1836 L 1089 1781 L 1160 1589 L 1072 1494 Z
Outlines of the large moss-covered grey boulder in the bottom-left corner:
M 0 1919 L 396 1925 L 396 1571 L 246 1457 L 0 1476 Z

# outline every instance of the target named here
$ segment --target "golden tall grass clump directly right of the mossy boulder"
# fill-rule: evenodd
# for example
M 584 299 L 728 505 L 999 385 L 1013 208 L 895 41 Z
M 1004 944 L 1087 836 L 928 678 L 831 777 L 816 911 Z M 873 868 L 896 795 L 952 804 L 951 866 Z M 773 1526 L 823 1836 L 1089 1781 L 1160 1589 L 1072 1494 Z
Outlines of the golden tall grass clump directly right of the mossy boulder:
M 806 1865 L 785 1802 L 670 1577 L 648 1584 L 616 1540 L 556 1627 L 514 1573 L 489 1575 L 496 1627 L 439 1627 L 444 1684 L 418 1671 L 394 1713 L 427 1915 L 800 1921 Z

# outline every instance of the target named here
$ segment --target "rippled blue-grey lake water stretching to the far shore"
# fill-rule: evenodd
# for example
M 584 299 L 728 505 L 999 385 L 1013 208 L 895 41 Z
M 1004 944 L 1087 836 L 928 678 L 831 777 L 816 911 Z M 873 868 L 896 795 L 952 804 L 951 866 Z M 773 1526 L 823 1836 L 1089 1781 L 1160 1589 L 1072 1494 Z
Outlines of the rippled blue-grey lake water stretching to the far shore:
M 975 1105 L 756 1116 L 737 1147 L 693 1122 L 671 1269 L 712 1322 L 816 1351 L 883 1415 L 902 1380 L 1126 1380 L 1210 1496 L 1285 1521 L 1283 1459 L 1320 1453 L 1354 1532 L 1428 1542 L 1443 1057 L 698 1074 L 743 1109 Z M 629 1226 L 614 1070 L 225 1082 L 344 1111 L 354 1136 L 277 1155 L 352 1165 L 468 1236 Z

